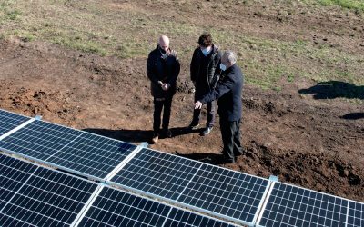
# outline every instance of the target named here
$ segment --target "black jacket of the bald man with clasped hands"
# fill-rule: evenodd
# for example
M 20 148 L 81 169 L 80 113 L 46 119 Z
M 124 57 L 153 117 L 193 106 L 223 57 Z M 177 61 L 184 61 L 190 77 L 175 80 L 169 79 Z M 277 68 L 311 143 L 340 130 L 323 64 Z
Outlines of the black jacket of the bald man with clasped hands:
M 153 97 L 171 97 L 176 93 L 176 81 L 180 71 L 177 54 L 171 51 L 166 58 L 162 57 L 159 46 L 149 53 L 147 58 L 147 77 L 150 80 L 150 88 Z M 158 81 L 170 84 L 167 91 L 163 91 Z

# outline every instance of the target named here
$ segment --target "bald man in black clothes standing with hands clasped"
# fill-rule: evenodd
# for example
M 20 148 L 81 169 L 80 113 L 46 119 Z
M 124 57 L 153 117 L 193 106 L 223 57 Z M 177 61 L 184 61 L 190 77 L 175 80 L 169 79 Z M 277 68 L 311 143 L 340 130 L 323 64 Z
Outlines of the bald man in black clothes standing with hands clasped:
M 172 137 L 168 127 L 179 71 L 180 64 L 177 52 L 169 48 L 169 38 L 166 35 L 160 36 L 157 48 L 150 52 L 147 58 L 147 77 L 150 80 L 151 92 L 154 97 L 152 143 L 158 141 L 163 108 L 162 136 Z

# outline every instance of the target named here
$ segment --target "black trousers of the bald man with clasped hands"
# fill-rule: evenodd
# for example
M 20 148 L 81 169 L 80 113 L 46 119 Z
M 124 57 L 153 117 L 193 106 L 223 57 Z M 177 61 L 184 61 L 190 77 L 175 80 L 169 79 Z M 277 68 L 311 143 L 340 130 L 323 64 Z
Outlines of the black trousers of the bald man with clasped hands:
M 153 131 L 154 133 L 159 133 L 160 128 L 160 118 L 163 109 L 163 123 L 162 128 L 167 130 L 169 127 L 169 118 L 171 113 L 172 106 L 172 97 L 167 97 L 164 100 L 154 99 L 154 122 L 153 122 Z

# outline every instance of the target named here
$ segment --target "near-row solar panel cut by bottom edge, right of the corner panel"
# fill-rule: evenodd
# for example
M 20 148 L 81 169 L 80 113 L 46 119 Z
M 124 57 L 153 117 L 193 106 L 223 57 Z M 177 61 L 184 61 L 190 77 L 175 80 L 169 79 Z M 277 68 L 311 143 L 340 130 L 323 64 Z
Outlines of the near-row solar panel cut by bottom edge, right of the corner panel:
M 161 202 L 105 187 L 80 226 L 234 226 Z

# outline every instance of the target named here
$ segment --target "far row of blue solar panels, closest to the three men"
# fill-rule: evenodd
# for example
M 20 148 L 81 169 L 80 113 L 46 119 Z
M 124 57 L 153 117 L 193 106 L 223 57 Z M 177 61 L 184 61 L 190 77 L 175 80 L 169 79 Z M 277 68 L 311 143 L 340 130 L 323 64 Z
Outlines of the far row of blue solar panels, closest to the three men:
M 2 119 L 12 119 L 4 127 L 11 130 L 29 118 L 0 112 Z M 261 226 L 364 225 L 359 202 L 274 183 L 260 212 L 270 185 L 266 179 L 150 149 L 129 161 L 136 146 L 54 123 L 29 123 L 0 140 L 0 149 L 99 180 L 108 180 L 124 160 L 128 163 L 109 183 L 243 224 L 254 225 L 260 213 Z

